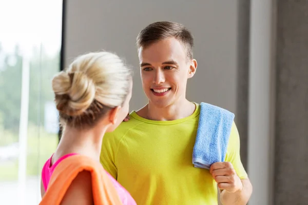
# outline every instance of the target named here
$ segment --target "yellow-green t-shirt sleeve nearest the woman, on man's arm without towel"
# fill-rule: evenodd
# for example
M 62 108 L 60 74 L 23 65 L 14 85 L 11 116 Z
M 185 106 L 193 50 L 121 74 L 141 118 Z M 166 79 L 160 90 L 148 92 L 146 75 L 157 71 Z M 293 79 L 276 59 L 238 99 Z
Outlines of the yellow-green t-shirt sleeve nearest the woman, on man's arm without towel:
M 115 179 L 118 177 L 118 169 L 115 164 L 117 143 L 112 132 L 105 133 L 102 143 L 100 161 L 104 169 Z

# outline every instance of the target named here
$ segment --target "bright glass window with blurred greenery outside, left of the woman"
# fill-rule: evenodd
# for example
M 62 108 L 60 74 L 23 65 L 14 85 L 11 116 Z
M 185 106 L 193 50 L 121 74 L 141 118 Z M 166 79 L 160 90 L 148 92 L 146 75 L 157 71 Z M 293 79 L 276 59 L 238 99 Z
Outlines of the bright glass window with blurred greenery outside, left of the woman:
M 0 3 L 0 203 L 38 204 L 58 142 L 51 79 L 60 70 L 62 0 Z

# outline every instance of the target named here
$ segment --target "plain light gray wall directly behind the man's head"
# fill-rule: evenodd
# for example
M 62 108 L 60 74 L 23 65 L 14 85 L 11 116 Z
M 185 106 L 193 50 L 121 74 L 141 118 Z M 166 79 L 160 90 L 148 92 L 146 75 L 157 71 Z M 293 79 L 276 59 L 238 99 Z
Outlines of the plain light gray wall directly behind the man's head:
M 183 23 L 195 36 L 197 75 L 188 82 L 187 97 L 237 112 L 238 5 L 232 1 L 83 1 L 68 0 L 65 64 L 88 51 L 108 50 L 125 57 L 136 72 L 131 109 L 147 101 L 141 87 L 136 37 L 158 20 Z

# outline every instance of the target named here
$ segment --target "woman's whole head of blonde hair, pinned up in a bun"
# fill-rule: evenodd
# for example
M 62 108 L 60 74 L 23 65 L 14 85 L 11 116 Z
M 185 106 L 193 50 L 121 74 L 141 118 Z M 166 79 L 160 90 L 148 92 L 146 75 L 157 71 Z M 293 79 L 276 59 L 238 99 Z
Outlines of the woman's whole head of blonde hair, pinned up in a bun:
M 109 52 L 91 52 L 73 60 L 54 76 L 52 89 L 62 125 L 94 126 L 129 93 L 131 70 Z

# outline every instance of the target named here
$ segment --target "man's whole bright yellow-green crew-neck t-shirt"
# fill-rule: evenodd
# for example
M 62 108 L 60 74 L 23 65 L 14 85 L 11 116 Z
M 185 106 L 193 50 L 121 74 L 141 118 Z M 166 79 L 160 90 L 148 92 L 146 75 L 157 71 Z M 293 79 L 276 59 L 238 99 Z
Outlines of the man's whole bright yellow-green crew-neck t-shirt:
M 101 163 L 137 204 L 217 204 L 217 183 L 209 170 L 192 165 L 200 105 L 185 118 L 155 121 L 136 112 L 103 138 Z M 233 124 L 225 161 L 247 178 Z

